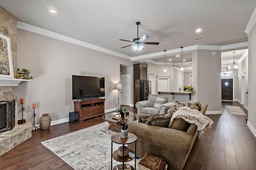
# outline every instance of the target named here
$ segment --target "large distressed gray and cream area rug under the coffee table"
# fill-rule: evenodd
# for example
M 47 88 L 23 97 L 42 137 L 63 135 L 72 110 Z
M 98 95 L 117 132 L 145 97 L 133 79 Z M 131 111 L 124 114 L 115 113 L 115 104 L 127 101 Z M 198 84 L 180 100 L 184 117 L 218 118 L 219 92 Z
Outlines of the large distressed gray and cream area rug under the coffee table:
M 110 168 L 111 136 L 117 132 L 109 130 L 108 125 L 100 123 L 41 143 L 75 170 L 110 170 L 121 162 L 112 159 Z M 113 143 L 113 152 L 120 146 Z M 134 167 L 134 159 L 127 163 Z

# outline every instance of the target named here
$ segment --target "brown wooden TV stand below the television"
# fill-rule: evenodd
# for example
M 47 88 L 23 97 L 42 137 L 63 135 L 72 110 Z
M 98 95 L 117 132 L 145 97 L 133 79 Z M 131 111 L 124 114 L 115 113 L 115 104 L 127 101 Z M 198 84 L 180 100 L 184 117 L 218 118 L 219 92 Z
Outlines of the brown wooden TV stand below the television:
M 105 114 L 105 99 L 74 101 L 74 111 L 79 113 L 79 121 Z

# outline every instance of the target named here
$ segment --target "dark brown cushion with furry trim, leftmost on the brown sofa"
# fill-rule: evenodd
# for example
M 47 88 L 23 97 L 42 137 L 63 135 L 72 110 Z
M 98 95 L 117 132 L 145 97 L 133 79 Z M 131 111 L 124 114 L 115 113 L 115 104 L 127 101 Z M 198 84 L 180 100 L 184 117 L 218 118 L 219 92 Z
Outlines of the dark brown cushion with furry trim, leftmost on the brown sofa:
M 154 114 L 154 115 L 142 115 L 139 117 L 138 121 L 146 123 L 148 125 L 155 125 L 160 127 L 168 127 L 172 113 L 164 114 Z

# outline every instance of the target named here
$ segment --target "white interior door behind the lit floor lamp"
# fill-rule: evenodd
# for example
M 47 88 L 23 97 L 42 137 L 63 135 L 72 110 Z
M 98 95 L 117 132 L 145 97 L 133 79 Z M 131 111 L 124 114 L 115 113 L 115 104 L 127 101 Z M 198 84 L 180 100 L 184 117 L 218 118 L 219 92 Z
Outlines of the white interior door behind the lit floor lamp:
M 131 103 L 131 74 L 121 74 L 120 83 L 123 88 L 120 90 L 120 105 L 130 106 Z

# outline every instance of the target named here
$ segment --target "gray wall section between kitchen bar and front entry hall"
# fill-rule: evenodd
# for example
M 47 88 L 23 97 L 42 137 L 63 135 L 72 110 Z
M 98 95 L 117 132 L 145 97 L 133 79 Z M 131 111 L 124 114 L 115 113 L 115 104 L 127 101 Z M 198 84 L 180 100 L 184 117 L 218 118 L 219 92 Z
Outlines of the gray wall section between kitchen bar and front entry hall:
M 192 102 L 208 104 L 209 113 L 221 113 L 221 51 L 214 51 L 217 55 L 212 55 L 212 50 L 192 52 L 193 87 L 196 90 Z

